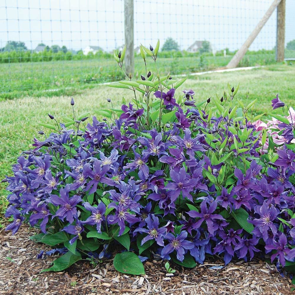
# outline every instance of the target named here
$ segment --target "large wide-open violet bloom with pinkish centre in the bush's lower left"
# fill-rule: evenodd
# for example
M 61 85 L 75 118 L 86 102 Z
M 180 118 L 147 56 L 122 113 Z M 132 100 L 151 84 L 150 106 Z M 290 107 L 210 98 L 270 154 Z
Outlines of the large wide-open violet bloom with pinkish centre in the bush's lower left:
M 70 185 L 67 184 L 64 189 L 60 189 L 60 197 L 51 195 L 47 200 L 55 206 L 60 206 L 52 218 L 57 216 L 62 220 L 68 220 L 70 223 L 74 221 L 74 218 L 78 218 L 76 205 L 82 202 L 82 199 L 81 196 L 77 195 L 69 198 L 70 190 Z

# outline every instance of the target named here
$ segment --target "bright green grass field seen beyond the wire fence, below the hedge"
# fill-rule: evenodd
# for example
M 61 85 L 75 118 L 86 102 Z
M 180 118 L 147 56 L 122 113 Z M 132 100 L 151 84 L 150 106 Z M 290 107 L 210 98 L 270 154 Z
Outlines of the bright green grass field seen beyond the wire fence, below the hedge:
M 160 57 L 160 75 L 170 71 L 172 75 L 188 74 L 216 69 L 227 65 L 232 56 L 196 55 L 190 57 Z M 239 66 L 275 63 L 274 53 L 251 53 L 245 55 Z M 148 61 L 148 71 L 155 71 Z M 124 74 L 113 58 L 91 60 L 59 60 L 48 62 L 2 63 L 0 65 L 0 101 L 23 96 L 74 95 L 97 83 L 118 81 Z M 135 69 L 145 73 L 141 57 L 135 58 Z

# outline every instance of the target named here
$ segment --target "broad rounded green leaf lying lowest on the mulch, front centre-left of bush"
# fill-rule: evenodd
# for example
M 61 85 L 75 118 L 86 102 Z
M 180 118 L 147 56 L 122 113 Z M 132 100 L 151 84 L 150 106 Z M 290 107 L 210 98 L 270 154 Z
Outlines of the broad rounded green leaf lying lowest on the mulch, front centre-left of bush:
M 132 275 L 145 274 L 142 262 L 132 252 L 118 253 L 114 258 L 114 267 L 121 273 L 130 273 Z

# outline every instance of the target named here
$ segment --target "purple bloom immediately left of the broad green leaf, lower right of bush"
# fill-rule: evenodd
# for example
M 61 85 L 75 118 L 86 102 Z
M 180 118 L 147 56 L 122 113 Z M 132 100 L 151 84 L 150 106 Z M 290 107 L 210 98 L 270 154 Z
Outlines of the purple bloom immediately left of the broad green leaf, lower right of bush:
M 196 212 L 195 210 L 191 210 L 187 212 L 190 217 L 199 217 L 200 219 L 194 224 L 194 228 L 199 228 L 201 224 L 206 221 L 208 232 L 212 235 L 214 235 L 214 232 L 218 228 L 218 224 L 216 222 L 216 219 L 222 219 L 224 218 L 220 214 L 212 214 L 217 207 L 217 202 L 213 201 L 209 204 L 209 208 L 207 208 L 207 200 L 202 201 L 200 205 L 201 213 Z

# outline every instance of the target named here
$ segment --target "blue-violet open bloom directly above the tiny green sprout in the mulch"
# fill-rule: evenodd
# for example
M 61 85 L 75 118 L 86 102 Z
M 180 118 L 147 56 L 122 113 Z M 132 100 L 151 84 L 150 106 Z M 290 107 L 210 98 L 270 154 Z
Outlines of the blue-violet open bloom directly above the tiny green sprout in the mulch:
M 169 254 L 176 250 L 176 257 L 179 261 L 183 261 L 184 259 L 184 249 L 192 249 L 194 248 L 194 244 L 191 241 L 186 240 L 187 232 L 184 230 L 179 234 L 172 235 L 170 232 L 164 237 L 165 240 L 168 240 L 169 244 L 166 245 L 161 253 L 161 257 L 164 259 L 170 259 Z

